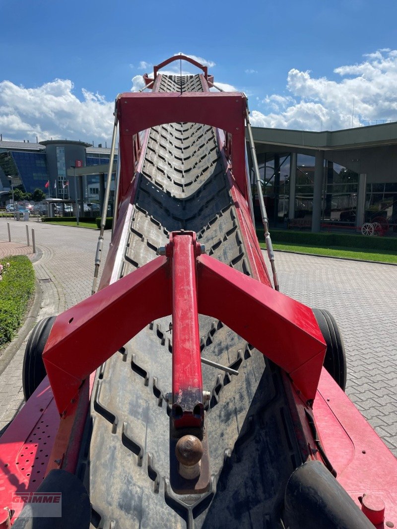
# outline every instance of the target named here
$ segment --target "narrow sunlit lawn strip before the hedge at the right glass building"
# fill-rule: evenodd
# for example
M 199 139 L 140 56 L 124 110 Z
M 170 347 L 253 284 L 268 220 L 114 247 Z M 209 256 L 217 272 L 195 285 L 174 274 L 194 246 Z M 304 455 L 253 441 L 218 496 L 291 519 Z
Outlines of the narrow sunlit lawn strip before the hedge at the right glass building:
M 264 243 L 260 243 L 261 248 L 266 248 Z M 311 246 L 309 244 L 286 244 L 286 243 L 274 243 L 274 250 L 283 250 L 287 252 L 298 252 L 298 253 L 315 253 L 320 256 L 329 257 L 345 257 L 348 259 L 356 259 L 358 261 L 381 261 L 388 263 L 397 263 L 397 254 L 395 251 L 383 250 L 379 252 L 377 250 L 363 250 L 362 248 L 346 248 L 331 246 L 329 248 L 321 248 Z

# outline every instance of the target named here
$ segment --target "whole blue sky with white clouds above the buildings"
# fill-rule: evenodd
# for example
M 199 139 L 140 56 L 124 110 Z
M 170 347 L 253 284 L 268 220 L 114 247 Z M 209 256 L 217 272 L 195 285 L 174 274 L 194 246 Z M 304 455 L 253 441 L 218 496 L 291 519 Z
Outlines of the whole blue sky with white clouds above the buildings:
M 396 15 L 395 0 L 0 0 L 0 132 L 109 140 L 141 62 L 178 52 L 246 92 L 257 125 L 345 128 L 353 103 L 354 126 L 394 121 Z

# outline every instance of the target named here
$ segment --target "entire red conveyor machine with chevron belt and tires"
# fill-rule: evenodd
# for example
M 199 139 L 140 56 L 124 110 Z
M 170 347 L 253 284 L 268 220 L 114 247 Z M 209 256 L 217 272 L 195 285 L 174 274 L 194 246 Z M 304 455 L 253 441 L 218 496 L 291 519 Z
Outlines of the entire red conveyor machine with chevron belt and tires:
M 159 72 L 182 59 L 202 73 Z M 185 56 L 144 79 L 115 103 L 98 291 L 112 163 L 93 295 L 26 348 L 0 527 L 397 527 L 396 460 L 344 393 L 335 321 L 278 291 L 246 96 Z M 51 494 L 61 516 L 32 499 Z

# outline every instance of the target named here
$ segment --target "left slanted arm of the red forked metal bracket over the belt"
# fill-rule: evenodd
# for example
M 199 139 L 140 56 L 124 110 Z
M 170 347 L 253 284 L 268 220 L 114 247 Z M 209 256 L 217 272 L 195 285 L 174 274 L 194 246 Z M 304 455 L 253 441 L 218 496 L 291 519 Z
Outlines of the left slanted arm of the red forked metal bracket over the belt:
M 170 299 L 167 259 L 158 257 L 57 316 L 43 361 L 61 414 L 97 367 L 172 312 Z

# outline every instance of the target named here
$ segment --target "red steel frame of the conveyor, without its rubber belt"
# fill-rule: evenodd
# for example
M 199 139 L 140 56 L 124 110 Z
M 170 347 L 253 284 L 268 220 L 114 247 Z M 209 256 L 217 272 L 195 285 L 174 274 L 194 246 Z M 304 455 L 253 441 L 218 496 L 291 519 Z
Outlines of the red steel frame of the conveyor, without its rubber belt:
M 179 59 L 181 56 L 164 61 L 155 74 L 172 60 Z M 195 64 L 190 58 L 183 56 L 182 59 Z M 21 467 L 17 465 L 25 450 L 30 449 L 30 455 L 38 457 L 40 443 L 32 446 L 28 440 L 47 417 L 51 430 L 48 444 L 52 451 L 49 464 L 44 468 L 47 472 L 52 468 L 75 471 L 95 369 L 156 318 L 173 314 L 173 402 L 177 403 L 181 395 L 186 397 L 179 400 L 183 404 L 182 415 L 177 410 L 174 425 L 202 424 L 200 345 L 197 341 L 197 313 L 202 313 L 222 320 L 285 371 L 284 385 L 302 454 L 320 458 L 305 417 L 305 411 L 309 410 L 314 414 L 324 448 L 341 484 L 356 503 L 359 503 L 358 495 L 364 492 L 380 494 L 386 503 L 385 519 L 395 522 L 397 472 L 393 455 L 322 369 L 325 344 L 311 309 L 270 286 L 249 212 L 244 157 L 245 96 L 209 93 L 207 80 L 212 82 L 213 78 L 207 75 L 205 67 L 202 69 L 204 93 L 159 94 L 156 90 L 160 75 L 155 75 L 153 93 L 122 94 L 118 98 L 119 156 L 122 160 L 119 221 L 101 290 L 56 318 L 43 353 L 51 386 L 47 378 L 43 380 L 0 439 L 0 507 L 8 505 L 13 491 L 34 491 L 40 484 L 39 479 L 34 484 L 29 475 L 22 476 Z M 151 83 L 151 79 L 147 77 L 146 82 Z M 141 147 L 138 133 L 151 126 L 178 121 L 218 128 L 218 143 L 255 279 L 201 255 L 194 233 L 176 232 L 170 236 L 166 256 L 158 257 L 110 285 L 116 279 L 113 264 L 142 166 L 140 151 L 148 138 L 146 134 Z M 224 131 L 224 145 L 221 131 Z M 148 298 L 154 300 L 150 306 L 146 303 Z M 139 299 L 142 303 L 137 303 Z M 224 303 L 224 299 L 233 299 L 233 304 Z M 134 306 L 139 306 L 139 311 L 131 314 Z M 99 338 L 96 329 L 105 325 L 117 328 L 118 335 L 107 333 Z M 194 391 L 189 395 L 186 388 L 191 387 Z M 197 404 L 198 408 L 194 409 Z M 197 411 L 199 413 L 194 413 Z M 365 447 L 362 455 L 355 454 L 356 445 Z M 368 457 L 363 459 L 364 455 Z M 363 461 L 366 461 L 365 471 L 360 472 Z M 384 464 L 389 472 L 382 470 Z M 0 526 L 1 523 L 0 519 Z

